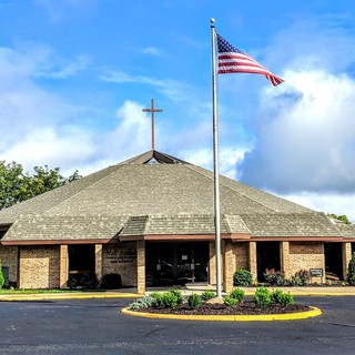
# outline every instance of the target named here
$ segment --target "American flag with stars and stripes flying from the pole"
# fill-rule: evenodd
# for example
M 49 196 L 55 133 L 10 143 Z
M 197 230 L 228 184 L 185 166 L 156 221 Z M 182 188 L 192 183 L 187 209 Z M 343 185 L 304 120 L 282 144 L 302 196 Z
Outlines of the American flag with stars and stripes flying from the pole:
M 219 47 L 219 74 L 227 73 L 251 73 L 262 74 L 274 85 L 281 84 L 284 80 L 273 74 L 261 65 L 255 59 L 242 52 L 223 37 L 217 34 Z

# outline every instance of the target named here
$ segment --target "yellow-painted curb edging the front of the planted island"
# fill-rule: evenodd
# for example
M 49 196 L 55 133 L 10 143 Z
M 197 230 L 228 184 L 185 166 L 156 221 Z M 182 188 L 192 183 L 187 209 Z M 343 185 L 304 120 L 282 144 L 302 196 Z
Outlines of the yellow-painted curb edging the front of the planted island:
M 205 321 L 205 322 L 273 322 L 273 321 L 300 321 L 313 318 L 322 315 L 317 307 L 311 307 L 311 311 L 286 313 L 286 314 L 263 314 L 263 315 L 185 315 L 185 314 L 162 314 L 135 312 L 129 308 L 122 308 L 122 314 L 144 318 L 159 320 L 179 320 L 179 321 Z

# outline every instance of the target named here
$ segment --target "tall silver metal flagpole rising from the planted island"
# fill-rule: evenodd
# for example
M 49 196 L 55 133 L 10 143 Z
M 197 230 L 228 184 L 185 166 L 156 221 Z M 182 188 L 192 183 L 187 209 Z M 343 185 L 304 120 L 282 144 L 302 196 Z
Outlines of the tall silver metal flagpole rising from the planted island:
M 215 281 L 216 297 L 222 298 L 221 280 L 221 201 L 219 172 L 219 120 L 217 120 L 217 84 L 216 84 L 216 44 L 214 19 L 211 19 L 212 36 L 212 100 L 213 100 L 213 172 L 214 172 L 214 227 L 215 227 Z

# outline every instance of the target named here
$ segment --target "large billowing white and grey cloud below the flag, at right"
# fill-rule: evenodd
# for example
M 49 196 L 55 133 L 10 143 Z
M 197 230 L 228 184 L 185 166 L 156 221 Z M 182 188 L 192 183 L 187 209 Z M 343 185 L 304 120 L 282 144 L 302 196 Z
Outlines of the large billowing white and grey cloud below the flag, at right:
M 243 180 L 281 193 L 355 191 L 355 81 L 316 69 L 284 77 L 263 92 Z

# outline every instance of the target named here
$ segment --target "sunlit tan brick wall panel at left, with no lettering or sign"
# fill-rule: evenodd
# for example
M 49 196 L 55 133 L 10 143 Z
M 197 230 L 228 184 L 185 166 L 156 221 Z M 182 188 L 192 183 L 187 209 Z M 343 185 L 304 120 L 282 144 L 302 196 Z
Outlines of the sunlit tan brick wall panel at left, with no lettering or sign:
M 21 246 L 19 288 L 59 287 L 59 245 Z

